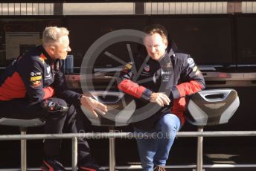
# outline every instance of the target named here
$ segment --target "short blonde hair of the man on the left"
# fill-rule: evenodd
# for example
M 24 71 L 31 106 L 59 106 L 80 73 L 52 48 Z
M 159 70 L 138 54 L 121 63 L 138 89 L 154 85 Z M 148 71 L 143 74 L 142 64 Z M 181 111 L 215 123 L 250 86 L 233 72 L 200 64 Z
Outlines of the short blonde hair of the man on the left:
M 42 44 L 54 44 L 60 42 L 62 36 L 68 36 L 69 31 L 66 28 L 57 28 L 57 27 L 46 27 L 42 32 Z

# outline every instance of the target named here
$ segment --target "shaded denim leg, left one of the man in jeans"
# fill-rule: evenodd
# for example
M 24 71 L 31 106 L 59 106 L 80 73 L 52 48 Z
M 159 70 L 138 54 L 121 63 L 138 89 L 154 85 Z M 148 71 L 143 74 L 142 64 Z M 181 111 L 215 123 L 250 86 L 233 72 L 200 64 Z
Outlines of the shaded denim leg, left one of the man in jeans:
M 136 133 L 144 134 L 146 133 L 143 130 L 136 129 Z M 148 132 L 152 133 L 152 132 Z M 137 146 L 138 146 L 138 155 L 141 159 L 142 170 L 144 171 L 153 171 L 153 158 L 156 154 L 156 139 L 153 138 L 137 138 Z

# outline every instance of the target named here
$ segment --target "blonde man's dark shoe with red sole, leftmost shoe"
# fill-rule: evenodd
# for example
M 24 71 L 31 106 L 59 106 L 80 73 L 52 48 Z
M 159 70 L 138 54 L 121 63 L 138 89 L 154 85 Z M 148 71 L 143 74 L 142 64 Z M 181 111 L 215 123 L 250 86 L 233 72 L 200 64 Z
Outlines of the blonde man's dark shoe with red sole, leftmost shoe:
M 56 159 L 43 160 L 41 165 L 42 171 L 65 171 L 65 167 Z

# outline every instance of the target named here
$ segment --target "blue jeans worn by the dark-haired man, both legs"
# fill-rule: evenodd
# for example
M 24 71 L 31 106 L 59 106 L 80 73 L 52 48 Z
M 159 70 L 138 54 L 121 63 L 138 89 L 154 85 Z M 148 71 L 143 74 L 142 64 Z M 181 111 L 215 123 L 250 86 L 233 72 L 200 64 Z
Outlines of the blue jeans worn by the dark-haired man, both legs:
M 137 138 L 138 154 L 143 170 L 152 171 L 154 166 L 164 167 L 173 145 L 176 132 L 180 128 L 180 120 L 175 114 L 165 114 L 156 123 L 156 138 Z M 146 133 L 135 128 L 136 133 Z

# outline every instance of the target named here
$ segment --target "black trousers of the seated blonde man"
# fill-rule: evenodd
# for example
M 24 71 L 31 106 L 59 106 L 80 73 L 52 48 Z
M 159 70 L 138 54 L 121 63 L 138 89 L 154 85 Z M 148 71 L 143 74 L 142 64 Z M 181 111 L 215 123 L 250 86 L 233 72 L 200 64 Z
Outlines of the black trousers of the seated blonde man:
M 52 98 L 61 106 L 68 106 L 65 100 Z M 31 105 L 28 100 L 14 99 L 0 101 L 0 117 L 16 119 L 42 118 L 45 120 L 45 134 L 78 133 L 85 132 L 86 120 L 80 107 L 71 105 L 68 112 L 46 112 L 39 104 Z M 78 138 L 78 166 L 92 165 L 95 161 L 90 154 L 89 144 L 86 139 Z M 45 139 L 45 158 L 58 158 L 60 156 L 61 140 Z

